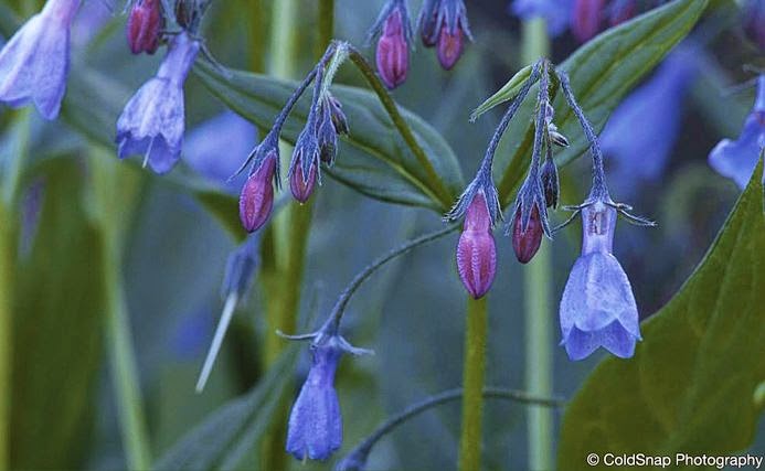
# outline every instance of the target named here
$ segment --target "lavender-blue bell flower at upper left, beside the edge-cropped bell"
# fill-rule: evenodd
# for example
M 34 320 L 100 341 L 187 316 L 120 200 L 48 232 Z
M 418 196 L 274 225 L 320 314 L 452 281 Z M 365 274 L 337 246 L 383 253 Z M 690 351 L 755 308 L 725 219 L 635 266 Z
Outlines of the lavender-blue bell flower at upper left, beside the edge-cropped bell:
M 199 41 L 187 32 L 170 43 L 157 76 L 138 89 L 117 121 L 120 159 L 142 154 L 157 173 L 178 162 L 184 130 L 183 83 L 199 51 Z

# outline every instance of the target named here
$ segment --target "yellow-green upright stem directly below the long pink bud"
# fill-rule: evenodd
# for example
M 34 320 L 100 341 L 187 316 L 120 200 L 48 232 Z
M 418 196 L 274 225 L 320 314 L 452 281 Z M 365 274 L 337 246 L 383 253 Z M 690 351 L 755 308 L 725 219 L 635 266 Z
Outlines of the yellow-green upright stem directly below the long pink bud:
M 478 471 L 481 465 L 486 331 L 486 297 L 478 300 L 468 299 L 465 361 L 463 366 L 463 430 L 459 441 L 460 471 Z

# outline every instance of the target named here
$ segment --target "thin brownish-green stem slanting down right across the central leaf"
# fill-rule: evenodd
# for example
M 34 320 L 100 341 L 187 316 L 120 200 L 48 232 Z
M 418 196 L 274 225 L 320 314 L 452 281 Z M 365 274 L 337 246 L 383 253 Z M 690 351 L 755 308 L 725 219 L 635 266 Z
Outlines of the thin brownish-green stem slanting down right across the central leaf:
M 437 193 L 436 197 L 438 199 L 438 202 L 442 204 L 444 211 L 448 210 L 454 202 L 454 196 L 449 190 L 446 189 L 444 182 L 442 182 L 442 180 L 438 178 L 438 173 L 436 173 L 433 164 L 427 159 L 425 151 L 417 143 L 417 138 L 414 136 L 412 129 L 401 116 L 397 105 L 393 98 L 391 98 L 391 95 L 385 89 L 385 86 L 382 84 L 382 82 L 380 82 L 380 78 L 375 74 L 374 69 L 369 65 L 364 56 L 353 46 L 349 45 L 349 51 L 351 61 L 353 61 L 359 71 L 361 71 L 361 74 L 378 95 L 380 103 L 382 103 L 385 111 L 387 111 L 387 115 L 391 117 L 393 126 L 396 127 L 396 130 L 399 130 L 399 133 L 401 133 L 404 142 L 406 142 L 415 159 L 417 159 L 417 163 L 419 163 L 419 165 L 425 170 L 425 174 L 427 175 L 431 185 Z

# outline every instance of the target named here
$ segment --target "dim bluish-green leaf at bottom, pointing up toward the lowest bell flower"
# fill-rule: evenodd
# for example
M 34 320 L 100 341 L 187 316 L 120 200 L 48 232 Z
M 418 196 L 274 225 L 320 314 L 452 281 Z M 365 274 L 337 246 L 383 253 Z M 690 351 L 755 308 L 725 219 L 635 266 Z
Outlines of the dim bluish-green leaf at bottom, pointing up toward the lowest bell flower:
M 291 384 L 298 352 L 298 344 L 290 345 L 252 392 L 211 414 L 160 458 L 153 469 L 237 468 L 245 453 L 268 431 L 273 415 L 289 394 L 287 386 Z

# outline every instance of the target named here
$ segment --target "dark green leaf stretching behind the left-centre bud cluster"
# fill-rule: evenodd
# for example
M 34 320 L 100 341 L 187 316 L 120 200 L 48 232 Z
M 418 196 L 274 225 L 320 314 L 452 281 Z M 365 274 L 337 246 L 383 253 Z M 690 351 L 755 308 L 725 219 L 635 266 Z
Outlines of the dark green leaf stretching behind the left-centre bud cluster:
M 204 63 L 198 63 L 194 71 L 213 95 L 262 129 L 272 127 L 297 87 L 295 82 L 241 71 L 231 71 L 231 77 L 226 77 Z M 448 194 L 440 194 L 428 182 L 425 169 L 393 126 L 376 95 L 340 85 L 332 86 L 332 94 L 343 105 L 351 132 L 342 139 L 337 163 L 327 170 L 331 176 L 368 196 L 391 203 L 425 206 L 438 212 L 451 206 L 463 191 L 464 180 L 457 158 L 438 132 L 400 107 Z M 309 106 L 310 90 L 298 101 L 284 127 L 281 137 L 287 142 L 295 143 Z

